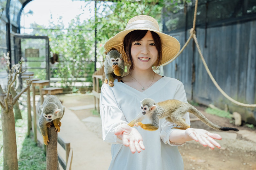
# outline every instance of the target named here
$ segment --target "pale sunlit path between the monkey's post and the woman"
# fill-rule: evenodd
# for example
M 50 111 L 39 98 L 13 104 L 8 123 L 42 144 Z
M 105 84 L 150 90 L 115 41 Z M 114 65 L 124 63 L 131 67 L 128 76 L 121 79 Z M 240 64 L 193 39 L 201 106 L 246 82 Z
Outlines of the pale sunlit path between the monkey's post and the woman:
M 66 107 L 61 119 L 60 133 L 73 149 L 73 170 L 105 170 L 111 161 L 111 145 L 90 131 L 74 112 Z M 65 160 L 65 152 L 58 146 L 58 152 Z

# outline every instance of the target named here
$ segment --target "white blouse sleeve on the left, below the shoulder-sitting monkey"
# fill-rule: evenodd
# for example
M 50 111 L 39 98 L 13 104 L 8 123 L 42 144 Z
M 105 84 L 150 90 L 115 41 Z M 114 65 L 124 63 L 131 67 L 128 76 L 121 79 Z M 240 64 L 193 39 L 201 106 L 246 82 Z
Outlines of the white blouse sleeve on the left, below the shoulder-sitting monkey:
M 110 88 L 113 87 L 104 84 L 101 87 L 100 93 L 102 138 L 104 141 L 112 144 L 122 144 L 122 140 L 116 137 L 115 130 L 118 125 L 128 124 L 128 122 L 126 122 L 124 114 L 119 108 L 115 95 Z

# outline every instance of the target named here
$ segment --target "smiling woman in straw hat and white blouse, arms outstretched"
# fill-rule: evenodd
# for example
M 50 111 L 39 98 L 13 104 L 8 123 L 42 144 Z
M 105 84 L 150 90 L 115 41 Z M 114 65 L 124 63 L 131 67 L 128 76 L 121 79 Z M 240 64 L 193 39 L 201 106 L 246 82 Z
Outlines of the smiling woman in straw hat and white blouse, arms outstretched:
M 156 102 L 168 99 L 187 102 L 180 81 L 160 76 L 152 69 L 171 60 L 180 50 L 175 38 L 159 32 L 154 18 L 145 15 L 131 18 L 125 30 L 109 39 L 104 48 L 106 51 L 116 48 L 124 62 L 130 64 L 130 72 L 122 82 L 115 80 L 114 87 L 107 84 L 101 87 L 103 140 L 112 143 L 109 169 L 180 170 L 183 160 L 177 146 L 195 140 L 211 149 L 220 148 L 214 140 L 221 139 L 218 134 L 203 129 L 173 129 L 177 125 L 164 119 L 155 131 L 127 125 L 140 112 L 140 101 L 144 98 Z M 188 113 L 184 119 L 190 124 Z M 149 123 L 147 121 L 143 123 Z

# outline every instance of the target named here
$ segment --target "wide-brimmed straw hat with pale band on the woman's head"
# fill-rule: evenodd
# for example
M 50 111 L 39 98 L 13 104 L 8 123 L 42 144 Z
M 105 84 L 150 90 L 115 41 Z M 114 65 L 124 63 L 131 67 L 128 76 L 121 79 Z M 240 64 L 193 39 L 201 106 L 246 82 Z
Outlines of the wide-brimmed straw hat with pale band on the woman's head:
M 159 32 L 159 25 L 156 19 L 147 15 L 139 15 L 131 18 L 124 31 L 117 33 L 104 44 L 105 50 L 109 51 L 111 48 L 116 48 L 120 53 L 122 53 L 124 63 L 130 64 L 127 61 L 128 57 L 124 52 L 123 41 L 125 35 L 133 30 L 149 30 L 154 31 L 159 35 L 162 41 L 162 62 L 160 65 L 171 60 L 180 51 L 179 41 L 170 35 Z M 155 66 L 155 63 L 153 66 Z

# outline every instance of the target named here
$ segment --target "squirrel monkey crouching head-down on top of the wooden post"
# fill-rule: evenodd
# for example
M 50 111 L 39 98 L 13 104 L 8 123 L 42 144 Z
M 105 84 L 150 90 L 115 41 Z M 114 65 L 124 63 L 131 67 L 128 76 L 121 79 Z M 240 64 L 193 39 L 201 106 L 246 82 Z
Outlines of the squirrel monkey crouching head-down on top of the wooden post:
M 60 100 L 56 96 L 50 95 L 44 99 L 44 103 L 39 106 L 38 111 L 40 114 L 38 121 L 40 131 L 44 138 L 44 144 L 47 145 L 50 142 L 47 128 L 50 128 L 53 123 L 55 131 L 60 132 L 60 119 L 64 115 L 65 107 L 61 105 Z

